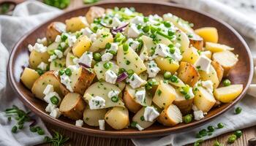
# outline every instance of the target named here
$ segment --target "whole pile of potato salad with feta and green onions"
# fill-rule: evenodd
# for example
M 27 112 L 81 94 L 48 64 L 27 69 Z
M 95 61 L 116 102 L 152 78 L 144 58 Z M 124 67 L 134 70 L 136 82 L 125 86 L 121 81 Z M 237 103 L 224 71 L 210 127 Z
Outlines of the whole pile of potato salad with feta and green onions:
M 219 44 L 217 28 L 192 27 L 171 13 L 90 7 L 28 45 L 20 80 L 50 117 L 75 126 L 142 131 L 201 120 L 243 85 L 228 80 L 238 55 Z

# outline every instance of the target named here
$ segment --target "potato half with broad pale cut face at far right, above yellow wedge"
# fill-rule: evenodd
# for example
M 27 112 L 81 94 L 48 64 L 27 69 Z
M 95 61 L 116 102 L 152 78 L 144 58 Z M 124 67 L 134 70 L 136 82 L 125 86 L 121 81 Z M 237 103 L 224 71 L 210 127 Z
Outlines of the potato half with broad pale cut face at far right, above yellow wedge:
M 233 66 L 235 66 L 238 62 L 238 56 L 228 50 L 214 53 L 212 55 L 212 59 L 214 61 L 217 61 L 222 66 L 222 68 L 224 69 L 223 76 L 225 77 L 227 77 L 230 69 L 232 69 Z

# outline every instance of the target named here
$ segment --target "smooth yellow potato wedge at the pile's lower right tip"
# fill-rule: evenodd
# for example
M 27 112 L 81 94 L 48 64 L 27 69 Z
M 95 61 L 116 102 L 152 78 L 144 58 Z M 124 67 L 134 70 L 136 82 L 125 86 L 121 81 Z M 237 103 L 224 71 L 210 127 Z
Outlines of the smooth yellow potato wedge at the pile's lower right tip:
M 229 85 L 214 90 L 214 96 L 217 100 L 228 103 L 236 99 L 243 91 L 243 85 Z

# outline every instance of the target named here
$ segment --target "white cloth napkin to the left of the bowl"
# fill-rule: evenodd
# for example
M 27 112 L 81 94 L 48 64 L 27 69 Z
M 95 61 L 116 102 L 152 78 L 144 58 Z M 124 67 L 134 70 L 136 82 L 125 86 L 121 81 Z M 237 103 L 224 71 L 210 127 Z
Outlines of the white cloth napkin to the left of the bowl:
M 7 61 L 9 53 L 15 43 L 31 28 L 38 26 L 40 23 L 53 18 L 61 11 L 53 7 L 48 7 L 38 1 L 26 1 L 19 4 L 12 16 L 0 15 L 0 145 L 1 146 L 23 146 L 37 145 L 43 142 L 44 137 L 50 136 L 47 128 L 45 128 L 42 120 L 33 115 L 37 120 L 37 126 L 45 130 L 44 136 L 32 133 L 29 130 L 29 123 L 24 125 L 22 131 L 12 134 L 12 126 L 15 120 L 8 122 L 7 117 L 3 113 L 5 109 L 16 105 L 23 110 L 29 111 L 23 106 L 18 99 L 18 95 L 12 90 L 7 81 Z

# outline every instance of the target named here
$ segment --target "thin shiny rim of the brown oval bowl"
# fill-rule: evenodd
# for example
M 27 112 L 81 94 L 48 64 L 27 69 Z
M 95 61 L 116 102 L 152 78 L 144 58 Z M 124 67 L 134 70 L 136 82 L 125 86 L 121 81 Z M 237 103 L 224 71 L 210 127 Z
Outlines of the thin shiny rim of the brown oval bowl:
M 249 56 L 249 65 L 250 65 L 249 78 L 248 78 L 248 82 L 246 83 L 246 87 L 244 88 L 242 93 L 238 96 L 238 98 L 235 101 L 233 101 L 227 107 L 225 107 L 224 110 L 222 110 L 220 112 L 217 112 L 216 115 L 212 115 L 211 117 L 205 118 L 203 120 L 195 121 L 193 123 L 189 123 L 189 124 L 186 124 L 186 125 L 181 125 L 181 126 L 178 126 L 178 127 L 166 127 L 164 129 L 154 129 L 154 130 L 150 130 L 150 131 L 101 131 L 99 129 L 93 129 L 93 128 L 84 128 L 84 127 L 80 128 L 80 127 L 72 125 L 70 123 L 66 123 L 62 120 L 51 118 L 45 112 L 42 112 L 41 110 L 37 109 L 37 107 L 35 107 L 33 104 L 31 104 L 26 99 L 26 96 L 23 95 L 23 93 L 21 93 L 18 90 L 18 86 L 15 84 L 15 78 L 12 75 L 13 74 L 13 72 L 12 72 L 12 61 L 13 61 L 15 51 L 18 50 L 18 45 L 20 45 L 20 43 L 23 42 L 24 39 L 26 39 L 26 37 L 29 36 L 29 34 L 31 34 L 33 31 L 37 30 L 37 28 L 41 27 L 45 23 L 49 23 L 54 18 L 58 18 L 61 15 L 65 15 L 65 14 L 70 13 L 72 11 L 75 11 L 77 9 L 84 9 L 86 7 L 91 7 L 91 6 L 94 6 L 94 5 L 97 6 L 99 4 L 116 4 L 116 3 L 159 4 L 159 5 L 165 5 L 165 6 L 170 6 L 170 7 L 177 7 L 177 8 L 181 8 L 181 9 L 188 9 L 188 10 L 200 13 L 200 15 L 205 15 L 206 17 L 211 18 L 213 20 L 216 20 L 219 23 L 222 23 L 223 26 L 230 29 L 230 31 L 232 31 L 233 34 L 235 34 L 236 37 L 238 37 L 238 39 L 241 41 L 242 45 L 244 45 L 244 47 L 246 48 L 246 52 Z M 178 131 L 188 130 L 190 128 L 195 128 L 197 126 L 200 126 L 203 123 L 209 122 L 209 121 L 213 120 L 214 118 L 217 118 L 219 115 L 222 115 L 222 113 L 229 110 L 231 107 L 233 107 L 235 104 L 237 104 L 238 101 L 240 101 L 244 97 L 244 95 L 246 94 L 247 89 L 249 88 L 250 83 L 252 82 L 252 77 L 253 77 L 252 54 L 249 50 L 248 45 L 246 44 L 244 39 L 241 37 L 241 35 L 238 34 L 238 32 L 232 26 L 230 26 L 229 24 L 225 23 L 222 20 L 219 20 L 219 18 L 215 18 L 214 16 L 209 15 L 206 12 L 201 12 L 201 11 L 196 10 L 196 9 L 192 9 L 192 8 L 189 8 L 189 7 L 184 7 L 181 4 L 173 4 L 173 3 L 168 3 L 168 2 L 164 2 L 164 1 L 115 1 L 114 0 L 114 1 L 100 1 L 100 2 L 97 2 L 96 4 L 89 4 L 89 5 L 86 5 L 86 6 L 83 6 L 83 7 L 78 7 L 76 9 L 71 9 L 67 12 L 61 13 L 60 15 L 56 15 L 56 17 L 54 17 L 54 18 L 51 18 L 50 20 L 46 21 L 45 23 L 42 23 L 41 25 L 37 26 L 36 28 L 33 28 L 31 31 L 29 31 L 28 33 L 23 35 L 23 37 L 21 37 L 21 39 L 16 43 L 16 45 L 12 48 L 12 51 L 10 53 L 10 58 L 9 58 L 9 61 L 8 61 L 8 66 L 7 66 L 7 73 L 8 73 L 7 75 L 8 75 L 8 79 L 10 80 L 10 84 L 11 84 L 12 88 L 15 89 L 16 93 L 18 93 L 18 95 L 19 95 L 18 97 L 20 98 L 21 101 L 23 101 L 23 104 L 25 104 L 26 107 L 29 107 L 29 109 L 32 112 L 39 115 L 39 117 L 42 118 L 43 120 L 45 120 L 49 123 L 52 123 L 53 125 L 60 126 L 61 128 L 68 129 L 70 131 L 76 131 L 76 132 L 79 132 L 80 134 L 87 134 L 87 135 L 96 136 L 96 137 L 145 138 L 145 137 L 159 137 L 159 136 L 164 136 L 164 135 L 167 135 L 167 134 L 176 133 Z

